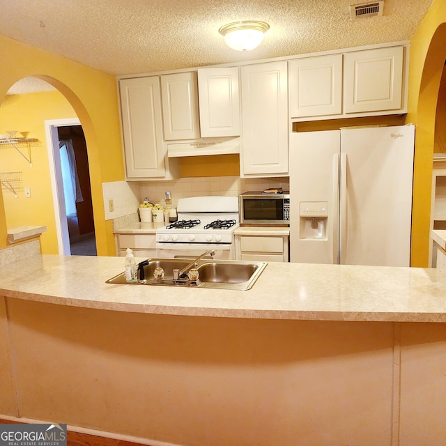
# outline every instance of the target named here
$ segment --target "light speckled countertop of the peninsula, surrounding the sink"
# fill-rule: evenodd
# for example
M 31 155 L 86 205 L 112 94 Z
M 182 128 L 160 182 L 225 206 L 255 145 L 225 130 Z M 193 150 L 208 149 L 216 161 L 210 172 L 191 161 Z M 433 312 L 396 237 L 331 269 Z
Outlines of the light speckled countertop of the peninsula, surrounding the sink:
M 121 257 L 33 256 L 2 266 L 0 294 L 121 312 L 446 322 L 446 277 L 434 268 L 268 263 L 248 291 L 105 283 L 123 268 Z

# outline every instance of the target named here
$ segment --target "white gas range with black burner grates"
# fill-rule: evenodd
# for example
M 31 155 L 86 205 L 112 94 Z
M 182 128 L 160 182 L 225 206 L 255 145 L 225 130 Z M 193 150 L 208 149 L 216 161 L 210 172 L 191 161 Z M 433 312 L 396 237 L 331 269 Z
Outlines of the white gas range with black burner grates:
M 190 197 L 178 200 L 178 220 L 156 231 L 157 256 L 195 257 L 214 249 L 215 259 L 235 259 L 238 197 Z

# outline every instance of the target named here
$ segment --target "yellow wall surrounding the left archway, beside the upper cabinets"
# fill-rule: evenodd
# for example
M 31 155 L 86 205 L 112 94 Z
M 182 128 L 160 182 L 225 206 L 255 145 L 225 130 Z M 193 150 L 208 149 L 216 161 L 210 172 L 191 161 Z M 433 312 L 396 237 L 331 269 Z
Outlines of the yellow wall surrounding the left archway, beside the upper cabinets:
M 10 86 L 27 76 L 40 77 L 54 85 L 75 110 L 84 129 L 89 153 L 98 254 L 114 255 L 112 222 L 106 222 L 104 217 L 102 183 L 124 179 L 115 77 L 3 36 L 0 36 L 0 64 L 2 113 L 3 107 L 4 113 L 8 112 L 4 100 Z M 59 117 L 52 116 L 53 119 Z M 1 122 L 0 127 L 3 128 Z M 4 130 L 20 131 L 20 128 Z M 7 244 L 7 217 L 2 201 L 0 199 L 0 248 Z

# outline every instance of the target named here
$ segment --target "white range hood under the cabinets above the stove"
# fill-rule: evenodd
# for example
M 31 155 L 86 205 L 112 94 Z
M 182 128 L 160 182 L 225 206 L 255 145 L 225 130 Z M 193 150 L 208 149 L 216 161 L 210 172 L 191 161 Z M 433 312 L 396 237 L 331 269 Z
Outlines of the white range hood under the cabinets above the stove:
M 240 153 L 240 137 L 222 139 L 206 138 L 196 141 L 178 141 L 167 143 L 168 157 L 226 155 Z

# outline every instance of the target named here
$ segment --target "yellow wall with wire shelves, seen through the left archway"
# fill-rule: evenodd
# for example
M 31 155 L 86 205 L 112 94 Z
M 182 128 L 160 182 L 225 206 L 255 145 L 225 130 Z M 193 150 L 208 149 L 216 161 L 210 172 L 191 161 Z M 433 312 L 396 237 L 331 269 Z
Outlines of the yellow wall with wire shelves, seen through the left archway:
M 43 254 L 59 254 L 45 120 L 75 117 L 75 111 L 59 91 L 8 95 L 0 107 L 0 133 L 11 129 L 29 131 L 29 138 L 39 140 L 37 146 L 30 148 L 32 167 L 12 146 L 1 146 L 0 171 L 22 173 L 22 184 L 17 185 L 17 198 L 9 190 L 3 190 L 8 228 L 36 224 L 47 226 L 47 231 L 40 238 Z M 28 148 L 20 149 L 29 155 Z M 31 189 L 31 198 L 25 197 L 24 187 Z

